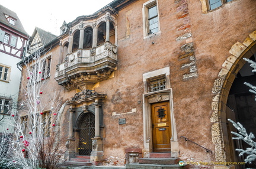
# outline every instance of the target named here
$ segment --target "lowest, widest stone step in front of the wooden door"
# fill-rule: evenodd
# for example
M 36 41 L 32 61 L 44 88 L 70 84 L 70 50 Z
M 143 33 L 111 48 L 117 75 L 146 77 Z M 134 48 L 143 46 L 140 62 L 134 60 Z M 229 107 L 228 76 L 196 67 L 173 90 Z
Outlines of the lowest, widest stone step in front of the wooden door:
M 175 165 L 159 165 L 159 164 L 126 164 L 126 169 L 187 169 L 189 165 L 180 166 L 178 164 Z

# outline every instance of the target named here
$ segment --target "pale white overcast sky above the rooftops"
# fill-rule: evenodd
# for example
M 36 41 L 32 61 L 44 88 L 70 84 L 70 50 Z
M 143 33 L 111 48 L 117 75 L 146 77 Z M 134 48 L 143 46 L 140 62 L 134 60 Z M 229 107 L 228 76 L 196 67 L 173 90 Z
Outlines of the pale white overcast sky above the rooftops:
M 82 15 L 91 15 L 113 0 L 2 0 L 0 4 L 15 12 L 25 31 L 32 35 L 34 28 L 59 35 L 63 21 L 73 21 Z

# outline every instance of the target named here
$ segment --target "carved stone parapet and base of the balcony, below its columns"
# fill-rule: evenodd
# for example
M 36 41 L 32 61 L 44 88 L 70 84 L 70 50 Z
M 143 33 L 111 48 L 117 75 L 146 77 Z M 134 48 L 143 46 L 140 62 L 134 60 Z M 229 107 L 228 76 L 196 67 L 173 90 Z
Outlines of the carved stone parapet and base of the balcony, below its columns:
M 95 48 L 78 49 L 57 64 L 55 80 L 68 90 L 79 85 L 101 82 L 110 77 L 117 66 L 117 47 L 105 42 Z

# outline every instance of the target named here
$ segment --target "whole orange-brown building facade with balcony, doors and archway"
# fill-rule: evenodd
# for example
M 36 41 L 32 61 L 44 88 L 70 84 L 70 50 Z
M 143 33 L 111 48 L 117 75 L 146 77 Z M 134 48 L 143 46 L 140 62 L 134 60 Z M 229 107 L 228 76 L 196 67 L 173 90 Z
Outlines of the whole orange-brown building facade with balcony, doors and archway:
M 171 152 L 188 162 L 242 161 L 227 119 L 255 121 L 254 96 L 239 82 L 255 83 L 242 58 L 255 60 L 256 1 L 216 3 L 115 0 L 63 22 L 44 57 L 52 58 L 46 92 L 61 91 L 67 160 L 122 165 Z

